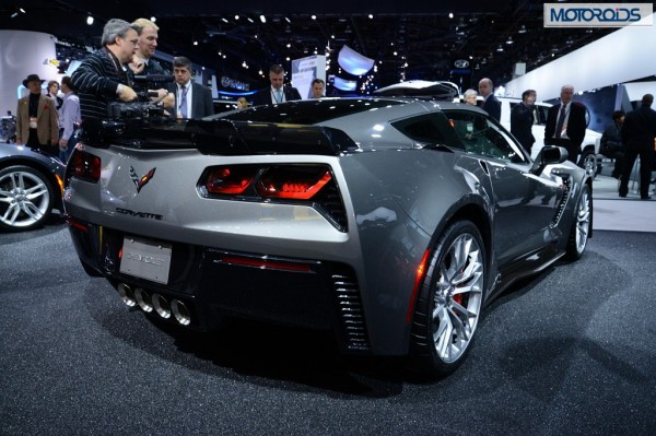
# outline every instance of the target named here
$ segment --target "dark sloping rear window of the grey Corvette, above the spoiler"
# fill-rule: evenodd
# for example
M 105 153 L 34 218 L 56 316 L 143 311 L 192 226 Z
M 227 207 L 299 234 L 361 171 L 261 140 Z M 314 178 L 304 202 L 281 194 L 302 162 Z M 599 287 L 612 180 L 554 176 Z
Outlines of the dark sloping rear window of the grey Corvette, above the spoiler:
M 316 125 L 365 110 L 402 104 L 403 102 L 380 98 L 298 101 L 282 105 L 256 106 L 233 114 L 219 115 L 215 118 L 235 121 Z

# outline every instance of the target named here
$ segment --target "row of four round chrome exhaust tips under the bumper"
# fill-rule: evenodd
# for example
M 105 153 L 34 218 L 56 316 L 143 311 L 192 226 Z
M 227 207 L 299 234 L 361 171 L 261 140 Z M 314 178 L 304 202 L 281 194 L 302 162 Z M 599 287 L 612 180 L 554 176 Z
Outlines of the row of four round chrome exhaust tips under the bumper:
M 191 323 L 191 314 L 187 305 L 179 299 L 172 299 L 171 303 L 161 294 L 150 293 L 141 287 L 132 290 L 126 283 L 119 283 L 117 286 L 118 294 L 128 307 L 139 306 L 141 310 L 150 314 L 153 310 L 164 319 L 173 318 L 180 326 L 189 326 Z

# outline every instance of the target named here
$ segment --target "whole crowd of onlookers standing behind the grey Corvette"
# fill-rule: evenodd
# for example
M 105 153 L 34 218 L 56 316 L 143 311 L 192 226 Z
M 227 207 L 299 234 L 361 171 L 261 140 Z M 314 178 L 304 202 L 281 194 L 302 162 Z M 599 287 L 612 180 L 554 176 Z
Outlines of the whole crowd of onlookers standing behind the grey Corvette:
M 16 110 L 16 143 L 40 149 L 67 162 L 77 143 L 77 129 L 82 123 L 87 127 L 106 118 L 108 105 L 118 102 L 147 99 L 160 105 L 163 113 L 173 118 L 213 115 L 211 91 L 191 81 L 192 66 L 188 58 L 174 58 L 173 81 L 167 83 L 164 80 L 167 72 L 154 59 L 157 32 L 157 25 L 147 19 L 132 23 L 109 20 L 103 30 L 102 47 L 89 55 L 71 76 L 63 76 L 61 86 L 57 81 L 50 81 L 47 92 L 43 94 L 45 80 L 37 74 L 27 75 L 23 85 L 30 90 L 30 94 L 19 101 Z M 162 83 L 138 83 L 138 79 L 143 76 L 156 76 Z M 284 84 L 282 66 L 270 67 L 269 82 L 270 86 L 254 95 L 254 105 L 301 99 L 298 90 Z M 311 97 L 321 98 L 325 89 L 325 82 L 315 79 L 311 85 Z M 493 90 L 492 80 L 483 78 L 479 81 L 478 93 L 483 98 L 481 108 L 499 121 L 502 107 Z M 464 101 L 477 105 L 478 95 L 475 90 L 467 90 Z M 576 163 L 587 123 L 586 107 L 573 101 L 573 97 L 574 87 L 562 86 L 560 103 L 548 111 L 544 144 L 564 148 L 567 158 Z M 522 94 L 522 102 L 511 113 L 511 132 L 528 153 L 536 142 L 532 134 L 532 105 L 536 99 L 536 91 L 526 90 Z M 604 132 L 600 153 L 614 160 L 612 176 L 620 179 L 620 197 L 626 197 L 629 178 L 640 156 L 641 198 L 651 199 L 648 189 L 656 141 L 656 111 L 651 108 L 653 101 L 653 95 L 646 94 L 640 108 L 626 115 L 623 111 L 613 113 L 612 123 Z M 237 101 L 238 109 L 249 105 L 244 97 Z

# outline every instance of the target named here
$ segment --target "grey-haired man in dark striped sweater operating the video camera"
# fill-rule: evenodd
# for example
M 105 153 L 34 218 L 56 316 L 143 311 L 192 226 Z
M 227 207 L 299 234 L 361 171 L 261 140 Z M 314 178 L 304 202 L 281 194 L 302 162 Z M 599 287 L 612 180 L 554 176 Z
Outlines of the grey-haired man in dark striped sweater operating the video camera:
M 127 21 L 112 19 L 103 28 L 102 44 L 103 48 L 89 55 L 71 75 L 79 90 L 83 126 L 107 118 L 110 103 L 138 98 L 127 72 L 137 50 L 137 31 Z M 161 90 L 154 99 L 164 97 L 166 91 Z

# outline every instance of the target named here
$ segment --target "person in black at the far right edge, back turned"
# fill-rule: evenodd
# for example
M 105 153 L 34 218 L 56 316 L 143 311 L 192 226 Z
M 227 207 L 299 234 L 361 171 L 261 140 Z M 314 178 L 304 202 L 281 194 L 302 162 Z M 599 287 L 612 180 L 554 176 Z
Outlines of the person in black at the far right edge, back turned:
M 654 103 L 652 94 L 645 94 L 642 105 L 626 114 L 622 125 L 622 141 L 624 141 L 624 170 L 620 181 L 620 197 L 629 193 L 629 177 L 635 158 L 640 155 L 640 198 L 651 200 L 649 182 L 652 164 L 654 162 L 654 139 L 656 138 L 656 111 L 651 108 Z

